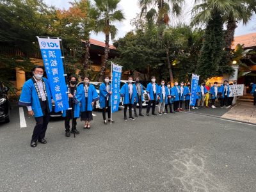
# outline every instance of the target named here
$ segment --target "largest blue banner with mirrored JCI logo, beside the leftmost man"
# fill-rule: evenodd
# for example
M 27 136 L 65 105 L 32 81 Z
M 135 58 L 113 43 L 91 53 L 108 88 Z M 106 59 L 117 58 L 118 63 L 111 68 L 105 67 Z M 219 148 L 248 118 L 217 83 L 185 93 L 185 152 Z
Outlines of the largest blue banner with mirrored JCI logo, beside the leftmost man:
M 63 56 L 61 56 L 60 38 L 38 38 L 42 59 L 50 84 L 55 112 L 69 108 L 67 85 L 65 83 Z

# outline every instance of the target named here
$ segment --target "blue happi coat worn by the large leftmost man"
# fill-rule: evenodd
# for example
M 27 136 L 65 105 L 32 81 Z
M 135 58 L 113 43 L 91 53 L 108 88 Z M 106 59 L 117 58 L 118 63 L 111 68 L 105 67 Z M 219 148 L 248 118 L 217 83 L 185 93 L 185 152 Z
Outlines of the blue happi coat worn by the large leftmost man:
M 51 90 L 49 88 L 49 83 L 48 83 L 48 80 L 45 79 L 44 77 L 42 78 L 42 81 L 44 81 L 44 83 L 45 83 L 49 109 L 51 112 L 52 111 L 52 99 L 51 99 L 52 95 L 51 95 Z M 19 105 L 20 106 L 31 106 L 32 110 L 35 114 L 35 117 L 44 115 L 44 113 L 41 109 L 40 100 L 38 98 L 36 88 L 35 88 L 35 85 L 34 85 L 32 79 L 29 79 L 28 81 L 26 81 L 24 83 L 24 85 L 22 87 L 22 92 L 20 94 Z

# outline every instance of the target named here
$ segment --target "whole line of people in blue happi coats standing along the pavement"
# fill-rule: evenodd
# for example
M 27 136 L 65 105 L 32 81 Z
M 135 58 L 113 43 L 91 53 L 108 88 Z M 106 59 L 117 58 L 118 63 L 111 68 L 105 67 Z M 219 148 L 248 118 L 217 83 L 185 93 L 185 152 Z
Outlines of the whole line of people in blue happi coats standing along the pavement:
M 19 104 L 20 106 L 26 106 L 28 108 L 28 114 L 35 117 L 36 125 L 31 138 L 31 147 L 36 147 L 37 142 L 46 144 L 45 132 L 49 123 L 49 113 L 52 111 L 51 91 L 49 88 L 49 82 L 43 77 L 44 68 L 37 66 L 33 68 L 33 77 L 26 81 L 22 88 Z M 90 122 L 93 120 L 93 106 L 97 100 L 99 100 L 100 108 L 102 108 L 103 123 L 114 123 L 111 119 L 111 83 L 110 77 L 106 76 L 104 83 L 100 84 L 99 94 L 97 93 L 95 86 L 90 84 L 90 78 L 84 77 L 83 83 L 77 86 L 77 77 L 71 76 L 69 84 L 67 86 L 68 102 L 70 109 L 63 111 L 65 116 L 65 136 L 70 137 L 70 133 L 79 134 L 76 129 L 77 118 L 81 118 L 84 121 L 84 129 L 90 129 Z M 236 81 L 233 82 L 236 84 Z M 253 86 L 253 96 L 256 98 L 256 87 Z M 174 83 L 171 87 L 170 83 L 166 83 L 164 79 L 161 80 L 161 84 L 156 83 L 156 77 L 151 77 L 151 82 L 147 84 L 147 116 L 150 114 L 157 115 L 156 103 L 158 104 L 158 115 L 167 113 L 177 113 L 189 109 L 190 97 L 191 97 L 191 83 L 186 85 L 181 82 Z M 232 97 L 229 97 L 229 85 L 228 81 L 224 81 L 221 86 L 215 82 L 213 86 L 209 86 L 203 82 L 196 87 L 196 104 L 191 106 L 191 109 L 209 108 L 209 99 L 211 99 L 211 108 L 216 108 L 216 99 L 220 99 L 220 108 L 230 108 L 232 105 Z M 120 97 L 123 98 L 124 104 L 124 120 L 127 121 L 127 109 L 129 109 L 129 119 L 134 120 L 134 116 L 144 116 L 142 113 L 142 103 L 144 101 L 144 90 L 140 83 L 140 78 L 135 78 L 133 83 L 133 77 L 129 76 L 127 83 L 125 83 L 120 90 Z M 254 104 L 256 99 L 254 99 Z M 137 105 L 139 105 L 139 113 L 137 113 Z M 134 109 L 134 116 L 132 116 L 132 108 Z M 169 108 L 169 110 L 168 110 Z M 106 113 L 108 113 L 108 120 L 106 119 Z M 72 120 L 72 128 L 70 131 L 70 120 Z

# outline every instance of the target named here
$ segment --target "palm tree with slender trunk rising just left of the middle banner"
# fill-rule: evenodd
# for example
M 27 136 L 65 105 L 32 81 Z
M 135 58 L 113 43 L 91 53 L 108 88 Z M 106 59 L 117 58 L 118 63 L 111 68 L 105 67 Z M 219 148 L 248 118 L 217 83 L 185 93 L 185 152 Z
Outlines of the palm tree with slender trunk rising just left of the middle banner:
M 93 11 L 93 18 L 95 19 L 95 33 L 103 32 L 105 34 L 105 48 L 104 48 L 104 60 L 100 68 L 100 76 L 98 81 L 103 81 L 106 72 L 106 63 L 109 56 L 109 35 L 111 39 L 115 38 L 118 31 L 113 25 L 113 22 L 122 21 L 125 19 L 124 13 L 121 10 L 117 10 L 117 5 L 120 0 L 94 0 L 95 9 Z

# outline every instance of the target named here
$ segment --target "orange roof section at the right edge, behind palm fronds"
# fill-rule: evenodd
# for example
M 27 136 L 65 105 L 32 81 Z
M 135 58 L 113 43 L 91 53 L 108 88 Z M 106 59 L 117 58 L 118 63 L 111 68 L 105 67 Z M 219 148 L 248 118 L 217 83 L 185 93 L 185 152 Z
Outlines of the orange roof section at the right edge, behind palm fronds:
M 256 47 L 256 33 L 235 36 L 235 40 L 232 44 L 232 49 L 236 49 L 237 44 L 244 44 L 244 48 Z

